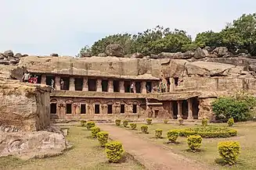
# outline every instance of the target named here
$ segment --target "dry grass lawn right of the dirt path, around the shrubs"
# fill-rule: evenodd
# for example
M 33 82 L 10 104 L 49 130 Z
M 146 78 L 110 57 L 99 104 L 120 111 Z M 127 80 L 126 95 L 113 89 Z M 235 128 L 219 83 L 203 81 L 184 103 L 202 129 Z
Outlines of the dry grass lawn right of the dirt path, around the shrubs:
M 198 123 L 200 124 L 200 123 Z M 203 139 L 202 146 L 200 147 L 200 152 L 193 153 L 188 151 L 188 145 L 186 143 L 186 137 L 178 137 L 177 144 L 166 143 L 168 141 L 166 133 L 169 129 L 183 129 L 193 127 L 191 123 L 186 123 L 184 126 L 178 126 L 176 123 L 164 124 L 164 123 L 153 123 L 149 126 L 149 134 L 140 133 L 140 127 L 144 124 L 138 124 L 138 130 L 132 130 L 135 135 L 138 135 L 146 140 L 151 140 L 155 143 L 163 144 L 177 154 L 183 154 L 188 158 L 192 158 L 197 161 L 207 163 L 207 165 L 215 166 L 218 169 L 255 169 L 256 167 L 256 122 L 246 122 L 235 124 L 232 128 L 237 129 L 238 135 L 236 137 L 230 138 L 218 138 L 218 139 Z M 226 124 L 217 124 L 226 126 Z M 154 138 L 154 129 L 163 129 L 163 139 Z M 239 141 L 241 145 L 241 154 L 239 156 L 238 162 L 233 167 L 221 166 L 215 163 L 218 160 L 218 149 L 217 144 L 220 141 L 225 140 L 235 140 Z

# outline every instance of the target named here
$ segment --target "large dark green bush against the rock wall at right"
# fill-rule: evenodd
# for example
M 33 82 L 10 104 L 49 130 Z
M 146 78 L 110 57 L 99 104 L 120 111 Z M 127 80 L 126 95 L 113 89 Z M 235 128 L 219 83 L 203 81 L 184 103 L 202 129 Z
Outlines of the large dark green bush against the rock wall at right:
M 230 97 L 219 97 L 212 103 L 216 119 L 227 121 L 233 118 L 235 122 L 251 119 L 256 98 L 251 94 L 239 92 Z

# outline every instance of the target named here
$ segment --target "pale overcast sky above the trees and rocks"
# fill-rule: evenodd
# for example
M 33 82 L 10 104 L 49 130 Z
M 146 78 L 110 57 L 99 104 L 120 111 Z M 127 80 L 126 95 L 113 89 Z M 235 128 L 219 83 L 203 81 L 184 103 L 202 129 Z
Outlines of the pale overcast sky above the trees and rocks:
M 218 31 L 254 0 L 0 0 L 0 51 L 76 55 L 109 34 L 138 33 L 157 25 L 195 37 Z

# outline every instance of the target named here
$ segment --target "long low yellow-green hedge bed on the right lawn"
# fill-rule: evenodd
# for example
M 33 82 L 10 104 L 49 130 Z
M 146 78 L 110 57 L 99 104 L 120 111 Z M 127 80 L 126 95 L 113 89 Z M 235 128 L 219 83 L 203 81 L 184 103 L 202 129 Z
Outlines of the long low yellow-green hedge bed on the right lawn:
M 180 129 L 179 136 L 200 135 L 203 138 L 218 138 L 236 136 L 236 129 L 226 126 L 197 126 L 194 128 Z

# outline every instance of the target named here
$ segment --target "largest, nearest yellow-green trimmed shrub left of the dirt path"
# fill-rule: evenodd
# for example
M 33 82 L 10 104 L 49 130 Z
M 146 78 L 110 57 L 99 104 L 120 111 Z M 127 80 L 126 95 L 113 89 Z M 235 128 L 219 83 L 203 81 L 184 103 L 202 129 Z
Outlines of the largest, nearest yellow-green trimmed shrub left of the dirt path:
M 118 162 L 122 158 L 124 154 L 124 148 L 122 143 L 113 141 L 110 143 L 106 143 L 106 158 L 110 162 Z

